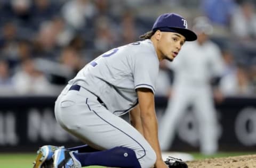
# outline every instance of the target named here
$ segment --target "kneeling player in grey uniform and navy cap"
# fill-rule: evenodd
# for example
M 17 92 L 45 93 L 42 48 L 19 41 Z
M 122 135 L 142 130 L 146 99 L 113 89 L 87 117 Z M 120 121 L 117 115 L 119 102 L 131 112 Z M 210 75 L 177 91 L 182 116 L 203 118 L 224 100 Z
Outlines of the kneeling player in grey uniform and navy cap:
M 154 94 L 159 61 L 173 61 L 185 41 L 197 36 L 185 18 L 166 13 L 140 37 L 145 40 L 103 53 L 68 82 L 55 102 L 55 117 L 87 145 L 43 146 L 34 167 L 187 167 L 180 159 L 163 161 Z M 131 124 L 119 117 L 127 112 Z

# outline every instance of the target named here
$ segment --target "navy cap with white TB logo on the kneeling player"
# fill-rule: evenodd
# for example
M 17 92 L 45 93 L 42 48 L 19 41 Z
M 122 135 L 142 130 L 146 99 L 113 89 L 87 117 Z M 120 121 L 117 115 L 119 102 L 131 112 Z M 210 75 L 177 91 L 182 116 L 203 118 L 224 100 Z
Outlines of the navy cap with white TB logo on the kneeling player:
M 177 32 L 184 36 L 186 41 L 194 41 L 197 39 L 196 33 L 188 29 L 187 20 L 175 13 L 165 13 L 160 15 L 156 19 L 152 30 Z

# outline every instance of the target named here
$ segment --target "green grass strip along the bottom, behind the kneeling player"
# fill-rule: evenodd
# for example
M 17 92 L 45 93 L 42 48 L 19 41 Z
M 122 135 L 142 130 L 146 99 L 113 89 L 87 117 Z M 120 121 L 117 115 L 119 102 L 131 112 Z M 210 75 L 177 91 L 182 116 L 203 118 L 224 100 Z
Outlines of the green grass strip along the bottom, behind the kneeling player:
M 204 159 L 204 158 L 211 158 L 211 157 L 227 157 L 227 156 L 239 156 L 239 155 L 248 155 L 248 154 L 255 154 L 255 153 L 241 153 L 241 152 L 235 152 L 235 153 L 225 153 L 221 152 L 215 155 L 211 156 L 204 156 L 199 153 L 189 153 L 193 155 L 195 159 Z M 31 153 L 16 153 L 16 154 L 10 154 L 10 153 L 0 153 L 0 167 L 4 168 L 28 168 L 33 167 L 32 162 L 34 161 L 36 157 L 36 154 Z M 89 166 L 87 168 L 99 168 L 100 166 Z M 102 167 L 100 167 L 102 168 Z

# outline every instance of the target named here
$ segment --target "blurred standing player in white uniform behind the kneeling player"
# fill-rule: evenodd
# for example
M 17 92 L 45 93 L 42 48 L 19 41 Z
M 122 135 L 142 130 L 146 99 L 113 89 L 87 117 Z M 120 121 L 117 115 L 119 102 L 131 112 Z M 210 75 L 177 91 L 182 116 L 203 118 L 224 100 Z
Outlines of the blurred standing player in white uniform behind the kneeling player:
M 205 17 L 195 19 L 193 30 L 198 39 L 187 43 L 177 59 L 167 64 L 174 71 L 172 96 L 159 126 L 159 141 L 162 150 L 169 150 L 174 130 L 192 105 L 199 129 L 200 150 L 213 154 L 218 150 L 217 115 L 214 108 L 211 81 L 216 85 L 223 71 L 220 49 L 208 36 L 212 33 L 210 21 Z M 214 88 L 218 101 L 222 95 Z

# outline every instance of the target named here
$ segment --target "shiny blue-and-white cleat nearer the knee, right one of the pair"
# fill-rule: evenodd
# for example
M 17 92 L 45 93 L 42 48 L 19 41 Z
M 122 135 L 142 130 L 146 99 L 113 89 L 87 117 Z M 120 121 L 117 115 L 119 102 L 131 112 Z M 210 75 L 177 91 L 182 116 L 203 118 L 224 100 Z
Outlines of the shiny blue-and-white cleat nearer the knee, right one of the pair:
M 58 149 L 53 155 L 54 168 L 81 168 L 81 163 L 75 158 L 74 153 L 67 149 Z

